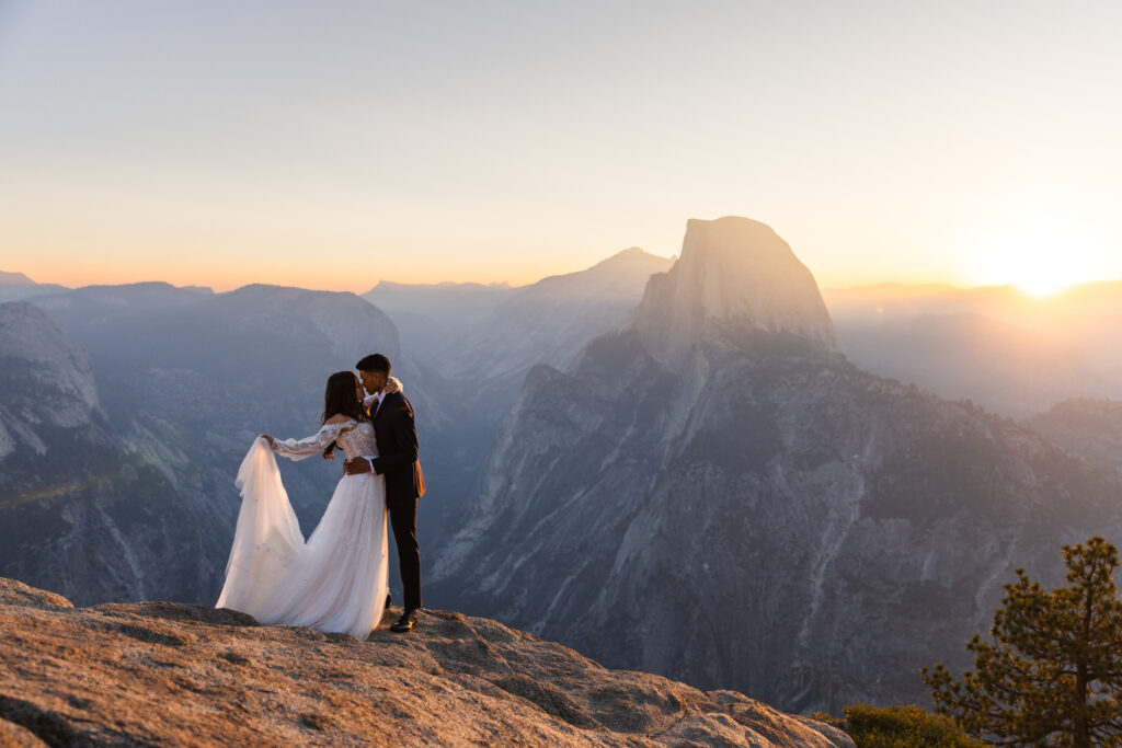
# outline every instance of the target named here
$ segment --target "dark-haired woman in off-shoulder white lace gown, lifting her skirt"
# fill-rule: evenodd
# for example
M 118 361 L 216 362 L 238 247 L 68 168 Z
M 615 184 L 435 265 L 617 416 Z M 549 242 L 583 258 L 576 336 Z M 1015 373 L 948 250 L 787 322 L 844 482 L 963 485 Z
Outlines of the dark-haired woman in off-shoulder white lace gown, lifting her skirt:
M 401 382 L 390 378 L 386 388 L 399 391 Z M 332 444 L 348 459 L 378 456 L 353 372 L 328 378 L 322 423 L 300 441 L 261 434 L 246 454 L 236 480 L 241 511 L 215 607 L 249 613 L 261 624 L 365 639 L 381 620 L 388 592 L 385 479 L 373 472 L 343 475 L 305 543 L 273 456 L 303 460 Z

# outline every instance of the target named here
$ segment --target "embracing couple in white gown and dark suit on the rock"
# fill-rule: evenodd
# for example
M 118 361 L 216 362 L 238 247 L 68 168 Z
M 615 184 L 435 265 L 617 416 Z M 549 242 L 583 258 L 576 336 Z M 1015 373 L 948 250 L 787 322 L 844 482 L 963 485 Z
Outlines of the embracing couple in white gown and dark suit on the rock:
M 389 359 L 367 355 L 358 375 L 328 378 L 322 427 L 302 440 L 261 434 L 238 470 L 241 510 L 218 608 L 263 624 L 309 626 L 365 639 L 389 604 L 386 514 L 394 529 L 405 590 L 404 612 L 390 627 L 413 629 L 421 610 L 417 462 L 413 407 Z M 292 460 L 347 455 L 343 477 L 304 541 L 274 453 Z

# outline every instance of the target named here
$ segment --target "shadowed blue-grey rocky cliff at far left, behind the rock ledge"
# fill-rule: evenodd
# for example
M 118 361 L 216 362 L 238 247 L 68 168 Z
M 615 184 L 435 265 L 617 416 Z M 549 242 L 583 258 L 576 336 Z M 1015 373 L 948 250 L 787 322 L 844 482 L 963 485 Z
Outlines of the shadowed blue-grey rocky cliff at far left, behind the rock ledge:
M 0 569 L 84 599 L 205 593 L 217 520 L 114 435 L 86 351 L 17 302 L 0 362 Z

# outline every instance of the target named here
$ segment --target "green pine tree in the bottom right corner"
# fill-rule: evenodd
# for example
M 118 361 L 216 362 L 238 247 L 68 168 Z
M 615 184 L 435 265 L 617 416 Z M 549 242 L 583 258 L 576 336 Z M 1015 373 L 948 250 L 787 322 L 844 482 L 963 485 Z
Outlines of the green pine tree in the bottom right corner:
M 1064 563 L 1068 587 L 1051 592 L 1017 570 L 960 682 L 941 663 L 921 671 L 938 711 L 1001 745 L 1122 746 L 1118 550 L 1093 537 L 1065 545 Z

